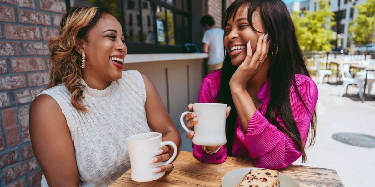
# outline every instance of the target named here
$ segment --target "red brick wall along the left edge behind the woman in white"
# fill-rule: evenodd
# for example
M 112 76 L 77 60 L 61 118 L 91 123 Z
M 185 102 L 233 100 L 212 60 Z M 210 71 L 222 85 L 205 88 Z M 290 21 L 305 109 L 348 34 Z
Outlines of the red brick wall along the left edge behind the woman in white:
M 0 0 L 0 186 L 40 186 L 28 112 L 49 82 L 47 41 L 65 11 L 64 0 Z

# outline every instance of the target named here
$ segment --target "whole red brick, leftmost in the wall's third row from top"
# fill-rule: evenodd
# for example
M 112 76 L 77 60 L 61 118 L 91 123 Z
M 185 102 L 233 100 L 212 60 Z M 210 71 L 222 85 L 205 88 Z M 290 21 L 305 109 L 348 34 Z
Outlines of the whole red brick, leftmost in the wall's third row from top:
M 40 31 L 37 27 L 22 25 L 4 25 L 5 38 L 16 40 L 39 40 Z

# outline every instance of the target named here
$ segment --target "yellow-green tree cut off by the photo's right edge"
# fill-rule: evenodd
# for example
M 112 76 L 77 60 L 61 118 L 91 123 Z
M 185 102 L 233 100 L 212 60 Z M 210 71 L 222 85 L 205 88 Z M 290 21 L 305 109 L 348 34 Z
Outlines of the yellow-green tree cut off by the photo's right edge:
M 355 8 L 358 9 L 358 15 L 350 22 L 351 38 L 357 45 L 375 43 L 375 0 L 367 0 L 366 3 L 357 5 Z

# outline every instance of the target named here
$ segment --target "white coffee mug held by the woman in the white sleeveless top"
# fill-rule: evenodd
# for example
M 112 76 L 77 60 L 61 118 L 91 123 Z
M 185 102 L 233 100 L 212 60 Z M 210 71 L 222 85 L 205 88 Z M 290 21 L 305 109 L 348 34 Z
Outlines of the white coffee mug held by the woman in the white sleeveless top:
M 148 182 L 163 177 L 165 172 L 154 173 L 153 169 L 171 163 L 177 155 L 177 146 L 172 141 L 162 142 L 162 134 L 159 132 L 148 132 L 136 134 L 126 138 L 129 151 L 131 178 L 137 182 Z M 173 155 L 169 160 L 151 163 L 155 152 L 165 145 L 173 147 Z

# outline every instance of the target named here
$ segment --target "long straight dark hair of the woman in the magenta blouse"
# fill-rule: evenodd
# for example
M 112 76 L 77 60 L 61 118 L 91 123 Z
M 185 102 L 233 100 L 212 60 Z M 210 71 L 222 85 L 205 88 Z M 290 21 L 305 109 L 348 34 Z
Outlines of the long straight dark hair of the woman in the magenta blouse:
M 256 32 L 252 24 L 252 14 L 258 11 L 264 21 L 264 26 L 269 33 L 274 55 L 271 58 L 270 68 L 267 72 L 267 78 L 270 85 L 270 103 L 267 108 L 266 118 L 276 126 L 280 131 L 287 134 L 296 144 L 297 149 L 302 153 L 302 162 L 307 161 L 305 146 L 294 120 L 290 105 L 290 89 L 294 86 L 297 95 L 305 108 L 309 111 L 305 102 L 297 89 L 295 74 L 309 76 L 303 53 L 297 42 L 296 32 L 293 22 L 290 18 L 287 6 L 282 0 L 236 0 L 225 11 L 225 24 L 231 16 L 235 16 L 240 7 L 249 6 L 248 21 L 252 29 Z M 276 51 L 278 51 L 276 53 Z M 231 63 L 231 58 L 226 52 L 222 68 L 220 90 L 216 97 L 216 102 L 225 103 L 231 106 L 232 110 L 226 119 L 226 138 L 227 153 L 232 153 L 233 138 L 235 135 L 235 125 L 237 120 L 237 111 L 234 107 L 233 98 L 229 88 L 229 80 L 233 76 L 237 67 Z M 293 85 L 292 85 L 293 83 Z M 281 126 L 276 120 L 276 110 L 285 123 Z M 310 139 L 309 145 L 315 143 L 316 132 L 316 113 L 315 110 L 309 111 L 312 114 L 311 126 L 308 132 Z M 307 140 L 307 139 L 306 139 Z

